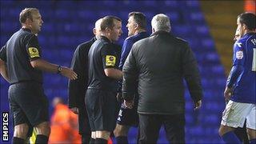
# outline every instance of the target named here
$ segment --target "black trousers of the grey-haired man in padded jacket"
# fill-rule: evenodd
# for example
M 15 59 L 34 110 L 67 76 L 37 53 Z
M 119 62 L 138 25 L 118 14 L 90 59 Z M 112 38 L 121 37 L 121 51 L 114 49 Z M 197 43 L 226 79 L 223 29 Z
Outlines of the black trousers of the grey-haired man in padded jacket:
M 138 143 L 157 143 L 159 130 L 163 125 L 170 143 L 185 143 L 185 114 L 138 114 Z

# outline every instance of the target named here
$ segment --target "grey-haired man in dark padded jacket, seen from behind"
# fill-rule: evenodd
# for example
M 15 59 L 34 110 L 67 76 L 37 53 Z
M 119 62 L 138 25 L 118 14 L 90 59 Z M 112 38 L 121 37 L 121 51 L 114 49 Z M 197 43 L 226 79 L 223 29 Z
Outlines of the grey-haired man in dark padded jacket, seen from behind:
M 183 143 L 183 78 L 194 109 L 202 105 L 197 62 L 188 43 L 170 34 L 170 19 L 165 14 L 155 15 L 151 25 L 153 34 L 134 43 L 123 66 L 123 98 L 125 105 L 131 108 L 138 86 L 139 143 L 156 143 L 162 124 L 170 143 Z

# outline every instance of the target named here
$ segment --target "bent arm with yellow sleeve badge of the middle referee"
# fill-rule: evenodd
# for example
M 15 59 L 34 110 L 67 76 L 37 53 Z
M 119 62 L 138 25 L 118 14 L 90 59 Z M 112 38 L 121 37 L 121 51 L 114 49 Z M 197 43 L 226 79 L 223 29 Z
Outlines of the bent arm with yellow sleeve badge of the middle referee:
M 118 54 L 112 45 L 102 47 L 103 69 L 107 77 L 122 79 L 122 71 L 118 70 Z

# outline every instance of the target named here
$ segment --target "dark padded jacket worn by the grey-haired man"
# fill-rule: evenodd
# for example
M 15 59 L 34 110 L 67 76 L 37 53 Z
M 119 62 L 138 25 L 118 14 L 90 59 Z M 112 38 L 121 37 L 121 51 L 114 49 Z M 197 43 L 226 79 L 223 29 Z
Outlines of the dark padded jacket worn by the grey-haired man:
M 122 94 L 131 100 L 137 90 L 139 114 L 183 114 L 183 79 L 194 102 L 202 99 L 198 66 L 188 43 L 157 31 L 136 43 L 123 66 Z

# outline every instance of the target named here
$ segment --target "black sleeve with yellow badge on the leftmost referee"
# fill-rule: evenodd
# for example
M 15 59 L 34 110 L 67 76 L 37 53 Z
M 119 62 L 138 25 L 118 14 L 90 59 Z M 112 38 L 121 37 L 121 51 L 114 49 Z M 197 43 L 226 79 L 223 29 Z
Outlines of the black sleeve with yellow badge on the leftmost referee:
M 28 42 L 26 44 L 26 51 L 29 55 L 30 61 L 34 61 L 40 58 L 41 50 L 39 47 L 37 36 L 32 35 L 31 38 L 28 39 Z

